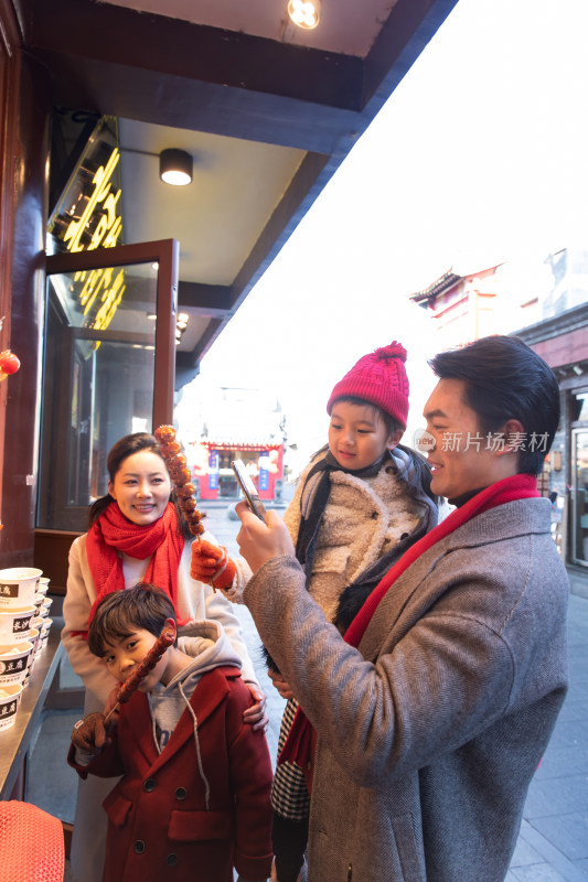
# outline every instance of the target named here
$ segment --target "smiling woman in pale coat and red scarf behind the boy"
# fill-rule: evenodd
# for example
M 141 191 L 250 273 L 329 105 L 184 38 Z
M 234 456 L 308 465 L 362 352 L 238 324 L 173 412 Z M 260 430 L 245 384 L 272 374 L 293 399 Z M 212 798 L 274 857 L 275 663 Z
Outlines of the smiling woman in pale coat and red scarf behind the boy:
M 152 582 L 171 598 L 182 625 L 200 619 L 220 622 L 242 658 L 242 676 L 256 703 L 244 719 L 255 729 L 267 727 L 265 696 L 232 604 L 220 592 L 190 576 L 188 524 L 173 502 L 164 460 L 153 435 L 125 435 L 110 450 L 108 494 L 89 510 L 89 529 L 70 551 L 62 641 L 74 671 L 86 687 L 84 712 L 103 710 L 118 684 L 101 659 L 89 652 L 86 634 L 94 609 L 110 591 Z M 209 541 L 215 541 L 204 534 Z M 79 782 L 72 840 L 72 871 L 77 882 L 99 882 L 106 841 L 103 799 L 113 781 Z

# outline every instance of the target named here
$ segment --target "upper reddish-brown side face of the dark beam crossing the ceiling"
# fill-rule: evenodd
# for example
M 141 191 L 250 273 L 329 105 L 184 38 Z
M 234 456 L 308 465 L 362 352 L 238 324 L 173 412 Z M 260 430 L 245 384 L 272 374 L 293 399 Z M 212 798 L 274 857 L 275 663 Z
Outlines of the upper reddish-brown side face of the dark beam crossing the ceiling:
M 360 110 L 362 62 L 93 0 L 35 0 L 30 47 Z

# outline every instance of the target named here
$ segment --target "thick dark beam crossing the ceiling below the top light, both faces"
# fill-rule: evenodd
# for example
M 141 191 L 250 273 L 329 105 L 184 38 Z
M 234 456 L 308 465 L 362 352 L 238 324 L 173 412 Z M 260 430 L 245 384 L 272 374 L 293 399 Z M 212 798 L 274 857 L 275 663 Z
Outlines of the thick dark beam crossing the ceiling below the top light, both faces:
M 332 152 L 361 114 L 361 58 L 89 0 L 33 0 L 54 103 Z

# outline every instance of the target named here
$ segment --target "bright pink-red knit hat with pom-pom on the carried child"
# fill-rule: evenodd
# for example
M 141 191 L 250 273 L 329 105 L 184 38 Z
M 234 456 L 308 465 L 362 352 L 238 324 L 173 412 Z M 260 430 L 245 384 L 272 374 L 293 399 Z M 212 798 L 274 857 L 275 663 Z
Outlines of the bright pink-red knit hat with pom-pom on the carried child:
M 406 349 L 396 341 L 364 355 L 334 387 L 327 412 L 331 413 L 338 398 L 362 398 L 377 405 L 406 429 L 408 377 L 405 362 Z

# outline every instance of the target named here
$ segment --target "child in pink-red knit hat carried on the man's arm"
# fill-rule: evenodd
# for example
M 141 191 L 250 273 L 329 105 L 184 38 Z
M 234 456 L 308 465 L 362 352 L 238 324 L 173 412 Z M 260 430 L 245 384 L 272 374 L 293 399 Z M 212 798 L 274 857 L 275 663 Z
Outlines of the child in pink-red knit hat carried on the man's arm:
M 408 417 L 406 349 L 394 341 L 364 355 L 334 386 L 327 411 L 329 442 L 302 472 L 285 513 L 307 588 L 344 633 L 382 576 L 437 524 L 426 461 L 399 444 Z M 243 562 L 226 549 L 192 546 L 192 576 L 239 601 Z M 268 659 L 269 676 L 288 699 L 278 744 L 286 743 L 298 702 Z M 302 771 L 280 763 L 271 792 L 272 880 L 306 878 L 310 797 Z

